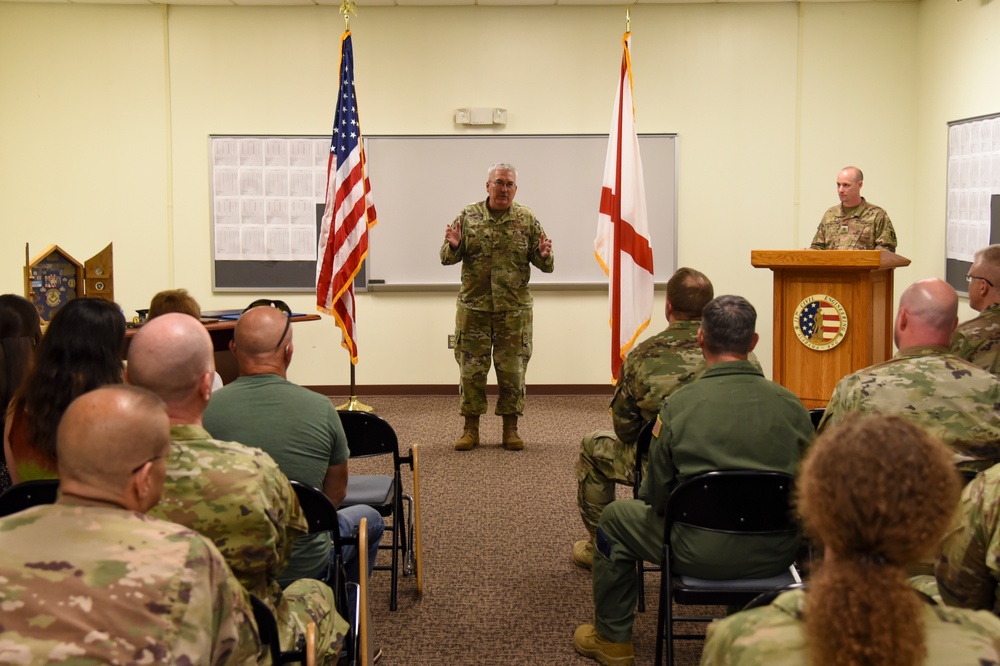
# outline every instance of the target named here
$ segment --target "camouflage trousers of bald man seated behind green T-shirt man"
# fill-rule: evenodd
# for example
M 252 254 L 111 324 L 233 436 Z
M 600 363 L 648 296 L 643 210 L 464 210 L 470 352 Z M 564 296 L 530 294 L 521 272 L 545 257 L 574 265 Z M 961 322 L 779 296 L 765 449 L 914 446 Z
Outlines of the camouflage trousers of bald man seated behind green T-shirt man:
M 318 580 L 301 578 L 281 595 L 274 613 L 281 649 L 291 650 L 309 622 L 316 623 L 316 663 L 336 664 L 348 625 L 337 614 L 333 590 Z

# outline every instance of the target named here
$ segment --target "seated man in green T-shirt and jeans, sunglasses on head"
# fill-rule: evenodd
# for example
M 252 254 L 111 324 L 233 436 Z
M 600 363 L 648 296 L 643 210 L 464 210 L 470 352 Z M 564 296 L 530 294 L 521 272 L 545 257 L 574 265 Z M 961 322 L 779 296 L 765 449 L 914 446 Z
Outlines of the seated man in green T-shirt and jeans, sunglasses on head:
M 321 489 L 338 508 L 341 534 L 353 535 L 361 519 L 367 518 L 371 575 L 382 539 L 382 516 L 369 506 L 340 508 L 347 494 L 347 437 L 329 398 L 286 379 L 295 352 L 290 323 L 288 315 L 272 307 L 243 313 L 231 344 L 240 377 L 212 395 L 205 428 L 215 437 L 263 449 L 288 478 Z M 297 578 L 318 576 L 329 557 L 329 537 L 299 539 L 279 580 L 287 585 Z M 358 581 L 353 546 L 344 548 L 344 559 L 348 579 Z

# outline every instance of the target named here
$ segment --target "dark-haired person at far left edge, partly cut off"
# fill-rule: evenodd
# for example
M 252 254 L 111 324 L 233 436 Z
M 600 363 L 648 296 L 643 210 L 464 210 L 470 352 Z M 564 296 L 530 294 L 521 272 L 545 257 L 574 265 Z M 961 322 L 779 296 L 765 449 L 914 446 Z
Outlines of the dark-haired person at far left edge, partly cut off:
M 0 418 L 7 422 L 7 406 L 28 369 L 31 351 L 42 339 L 41 319 L 28 299 L 0 296 Z M 10 486 L 7 459 L 0 459 L 0 492 Z

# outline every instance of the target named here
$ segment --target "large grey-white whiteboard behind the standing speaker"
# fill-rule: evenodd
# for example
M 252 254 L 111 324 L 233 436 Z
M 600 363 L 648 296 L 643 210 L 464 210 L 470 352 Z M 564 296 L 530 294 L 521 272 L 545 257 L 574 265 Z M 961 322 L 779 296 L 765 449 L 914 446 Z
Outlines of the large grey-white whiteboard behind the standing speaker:
M 640 135 L 653 269 L 664 284 L 677 263 L 677 136 Z M 365 155 L 378 224 L 369 236 L 369 289 L 458 285 L 461 263 L 442 266 L 445 227 L 486 198 L 487 170 L 517 169 L 516 201 L 552 239 L 555 270 L 531 283 L 606 286 L 594 258 L 607 135 L 369 136 Z

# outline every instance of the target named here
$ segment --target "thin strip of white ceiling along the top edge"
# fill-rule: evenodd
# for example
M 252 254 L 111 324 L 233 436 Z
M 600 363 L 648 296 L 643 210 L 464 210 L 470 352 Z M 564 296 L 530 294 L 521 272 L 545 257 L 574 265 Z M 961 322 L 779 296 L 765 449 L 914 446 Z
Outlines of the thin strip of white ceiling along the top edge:
M 906 2 L 912 0 L 631 0 L 635 5 L 709 4 L 715 2 Z M 341 0 L 0 0 L 78 5 L 339 6 Z M 554 5 L 625 5 L 627 0 L 357 0 L 359 7 L 515 7 Z

